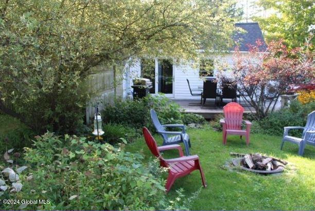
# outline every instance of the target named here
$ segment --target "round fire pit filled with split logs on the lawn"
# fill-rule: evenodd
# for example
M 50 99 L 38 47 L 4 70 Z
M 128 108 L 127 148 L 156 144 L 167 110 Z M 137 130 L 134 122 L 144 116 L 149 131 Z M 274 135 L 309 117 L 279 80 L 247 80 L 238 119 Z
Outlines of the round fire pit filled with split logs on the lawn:
M 281 159 L 272 158 L 255 154 L 239 154 L 230 152 L 231 156 L 237 156 L 232 160 L 234 166 L 240 167 L 243 170 L 248 170 L 260 174 L 274 174 L 285 169 L 288 162 Z

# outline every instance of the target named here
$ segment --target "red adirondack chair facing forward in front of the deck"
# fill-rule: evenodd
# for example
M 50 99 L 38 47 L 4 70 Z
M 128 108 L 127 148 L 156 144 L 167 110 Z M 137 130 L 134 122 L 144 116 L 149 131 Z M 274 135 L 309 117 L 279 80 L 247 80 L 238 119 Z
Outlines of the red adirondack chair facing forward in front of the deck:
M 228 103 L 223 107 L 224 119 L 220 120 L 223 126 L 223 144 L 226 144 L 226 136 L 240 135 L 246 136 L 246 144 L 250 143 L 250 131 L 252 123 L 243 120 L 244 108 L 238 103 Z M 246 130 L 242 130 L 242 123 L 246 124 Z

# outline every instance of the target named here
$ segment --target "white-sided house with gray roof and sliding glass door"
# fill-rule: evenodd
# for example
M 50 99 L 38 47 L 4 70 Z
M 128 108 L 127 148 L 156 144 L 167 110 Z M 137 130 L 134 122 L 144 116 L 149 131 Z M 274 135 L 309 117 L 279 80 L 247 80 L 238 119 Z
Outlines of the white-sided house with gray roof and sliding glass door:
M 267 46 L 258 23 L 237 23 L 235 26 L 246 31 L 246 33 L 239 33 L 233 37 L 241 53 L 248 53 L 248 45 L 255 45 L 257 40 L 263 42 L 260 50 L 266 50 Z M 200 99 L 200 97 L 191 96 L 186 79 L 189 80 L 191 88 L 202 86 L 203 80 L 200 77 L 201 75 L 216 76 L 216 61 L 225 61 L 228 65 L 233 64 L 233 50 L 234 47 L 229 52 L 213 56 L 212 59 L 205 60 L 200 65 L 178 65 L 161 58 L 155 58 L 149 62 L 139 60 L 132 66 L 127 67 L 124 80 L 124 97 L 132 93 L 132 79 L 141 77 L 152 80 L 153 88 L 150 90 L 151 93 L 162 92 L 172 99 Z M 148 65 L 148 63 L 151 63 L 151 65 Z M 151 68 L 149 71 L 151 76 L 142 75 L 142 69 L 148 66 Z M 213 71 L 204 75 L 203 69 L 207 66 L 211 66 Z

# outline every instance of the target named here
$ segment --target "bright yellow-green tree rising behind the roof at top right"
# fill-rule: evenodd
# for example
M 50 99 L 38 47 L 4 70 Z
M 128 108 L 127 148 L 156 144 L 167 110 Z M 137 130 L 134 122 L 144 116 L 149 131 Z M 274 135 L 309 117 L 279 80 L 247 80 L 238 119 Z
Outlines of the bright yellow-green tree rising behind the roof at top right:
M 255 16 L 252 19 L 263 29 L 267 42 L 283 39 L 289 47 L 301 46 L 314 29 L 315 7 L 312 1 L 260 0 L 256 3 L 263 10 L 271 11 L 268 17 Z M 315 40 L 312 39 L 314 45 Z

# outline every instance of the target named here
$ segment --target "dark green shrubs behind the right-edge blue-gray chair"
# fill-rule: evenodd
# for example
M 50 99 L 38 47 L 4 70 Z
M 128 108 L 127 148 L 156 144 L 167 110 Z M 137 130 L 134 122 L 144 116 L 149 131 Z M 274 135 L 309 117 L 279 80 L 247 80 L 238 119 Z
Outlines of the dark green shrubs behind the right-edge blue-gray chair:
M 266 118 L 259 121 L 259 125 L 264 132 L 270 135 L 283 135 L 283 128 L 286 126 L 304 126 L 307 114 L 315 110 L 315 102 L 301 104 L 293 101 L 288 108 L 270 113 Z M 300 137 L 302 131 L 291 130 L 291 136 Z

